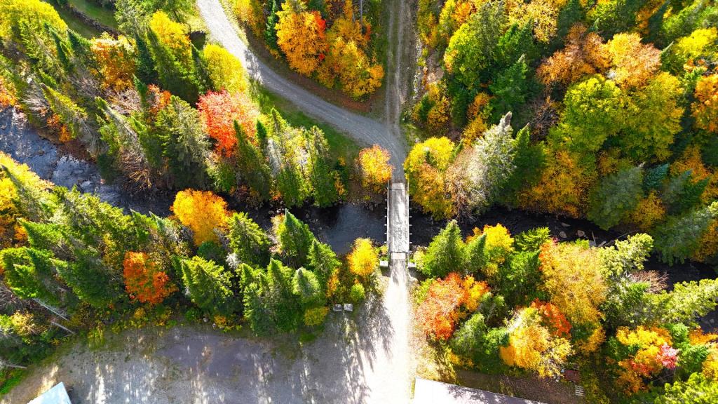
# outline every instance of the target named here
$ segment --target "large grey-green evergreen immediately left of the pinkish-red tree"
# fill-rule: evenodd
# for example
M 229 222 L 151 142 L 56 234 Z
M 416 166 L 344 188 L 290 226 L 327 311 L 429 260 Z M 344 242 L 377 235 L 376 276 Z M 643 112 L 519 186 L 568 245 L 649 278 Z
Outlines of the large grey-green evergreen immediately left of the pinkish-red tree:
M 169 162 L 174 186 L 202 188 L 207 183 L 210 144 L 202 132 L 200 115 L 184 100 L 172 96 L 157 114 L 162 155 Z

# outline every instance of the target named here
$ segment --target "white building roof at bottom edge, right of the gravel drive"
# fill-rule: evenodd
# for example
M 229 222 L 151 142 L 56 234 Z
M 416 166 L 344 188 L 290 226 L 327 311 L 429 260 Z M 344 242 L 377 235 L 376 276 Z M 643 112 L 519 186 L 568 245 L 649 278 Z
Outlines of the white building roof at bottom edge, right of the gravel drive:
M 538 401 L 416 378 L 412 404 L 542 404 Z

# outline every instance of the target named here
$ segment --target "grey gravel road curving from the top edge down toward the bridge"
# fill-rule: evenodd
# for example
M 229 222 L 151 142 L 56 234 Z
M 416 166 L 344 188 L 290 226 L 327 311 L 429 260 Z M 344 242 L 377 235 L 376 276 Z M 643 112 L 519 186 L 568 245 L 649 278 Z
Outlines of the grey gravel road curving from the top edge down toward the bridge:
M 401 3 L 401 1 L 397 1 Z M 241 60 L 249 75 L 272 93 L 292 102 L 308 116 L 323 121 L 335 127 L 340 132 L 347 134 L 360 144 L 378 144 L 391 152 L 391 163 L 396 173 L 406 157 L 406 144 L 396 124 L 397 116 L 387 122 L 377 121 L 367 116 L 356 114 L 342 109 L 340 106 L 331 104 L 319 96 L 310 93 L 297 83 L 292 83 L 284 76 L 279 75 L 269 68 L 251 52 L 246 43 L 237 35 L 235 24 L 232 24 L 220 4 L 220 0 L 197 0 L 197 7 L 209 29 L 210 37 L 219 42 L 229 52 Z M 390 42 L 391 43 L 391 42 Z M 391 77 L 391 75 L 388 75 Z M 389 87 L 393 87 L 394 81 L 387 80 Z M 387 89 L 388 95 L 396 91 Z M 387 96 L 387 103 L 398 103 L 400 99 Z M 396 108 L 393 106 L 392 108 Z M 398 105 L 401 110 L 401 106 Z M 403 177 L 403 174 L 400 175 Z

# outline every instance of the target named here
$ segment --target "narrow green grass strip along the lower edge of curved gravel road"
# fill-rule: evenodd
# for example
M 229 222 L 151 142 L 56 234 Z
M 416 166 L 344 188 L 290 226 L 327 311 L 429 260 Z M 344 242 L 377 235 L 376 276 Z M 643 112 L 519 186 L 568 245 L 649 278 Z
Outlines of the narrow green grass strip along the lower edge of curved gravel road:
M 284 98 L 276 96 L 274 93 L 267 91 L 266 88 L 256 85 L 253 86 L 251 93 L 252 98 L 259 104 L 259 109 L 263 114 L 269 114 L 269 111 L 275 108 L 279 111 L 279 114 L 294 127 L 310 128 L 315 126 L 322 129 L 322 132 L 324 132 L 327 138 L 327 144 L 329 144 L 332 157 L 342 157 L 345 159 L 345 162 L 350 165 L 358 155 L 360 147 L 352 139 L 346 137 L 337 131 L 337 129 L 327 124 L 322 124 L 305 115 L 292 103 L 284 100 Z

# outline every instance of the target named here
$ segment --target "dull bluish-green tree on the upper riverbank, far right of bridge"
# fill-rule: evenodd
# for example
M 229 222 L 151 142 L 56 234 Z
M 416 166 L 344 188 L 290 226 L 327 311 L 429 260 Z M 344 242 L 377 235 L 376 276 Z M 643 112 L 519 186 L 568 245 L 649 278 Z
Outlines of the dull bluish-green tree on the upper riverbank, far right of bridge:
M 607 230 L 620 223 L 643 196 L 643 169 L 630 167 L 603 178 L 589 197 L 587 217 Z

